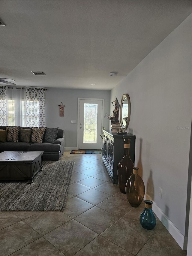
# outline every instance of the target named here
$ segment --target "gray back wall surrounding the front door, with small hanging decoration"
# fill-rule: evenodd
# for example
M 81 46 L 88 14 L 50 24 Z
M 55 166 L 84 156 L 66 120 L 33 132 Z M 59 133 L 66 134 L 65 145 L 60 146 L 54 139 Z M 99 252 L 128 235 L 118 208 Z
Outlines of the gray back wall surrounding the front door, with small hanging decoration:
M 77 120 L 78 98 L 104 99 L 104 114 L 109 112 L 110 91 L 53 89 L 46 91 L 46 126 L 59 127 L 65 130 L 65 147 L 77 147 L 77 126 L 71 120 Z M 64 117 L 59 116 L 61 101 L 64 107 Z M 104 127 L 109 125 L 109 119 L 104 118 Z

